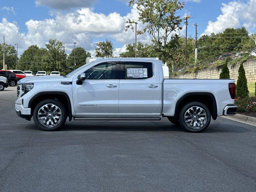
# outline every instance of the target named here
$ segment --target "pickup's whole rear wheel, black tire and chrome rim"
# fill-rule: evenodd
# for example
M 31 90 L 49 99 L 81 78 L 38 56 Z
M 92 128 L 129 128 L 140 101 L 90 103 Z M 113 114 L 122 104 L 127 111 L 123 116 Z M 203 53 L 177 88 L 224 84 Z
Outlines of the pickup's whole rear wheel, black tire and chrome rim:
M 198 107 L 198 110 L 196 107 Z M 200 112 L 201 108 L 202 108 L 202 111 Z M 193 111 L 190 109 L 192 109 Z M 188 110 L 190 112 L 190 115 L 189 115 L 189 112 L 187 112 Z M 198 115 L 199 112 L 200 114 Z M 185 115 L 186 115 L 186 118 L 185 118 Z M 185 122 L 185 119 L 187 119 L 188 122 Z M 185 106 L 183 106 L 182 110 L 180 111 L 180 126 L 182 126 L 182 128 L 184 128 L 188 132 L 202 132 L 206 130 L 210 122 L 211 122 L 210 110 L 203 103 L 190 102 Z M 187 123 L 188 124 L 191 123 L 191 126 L 189 126 Z

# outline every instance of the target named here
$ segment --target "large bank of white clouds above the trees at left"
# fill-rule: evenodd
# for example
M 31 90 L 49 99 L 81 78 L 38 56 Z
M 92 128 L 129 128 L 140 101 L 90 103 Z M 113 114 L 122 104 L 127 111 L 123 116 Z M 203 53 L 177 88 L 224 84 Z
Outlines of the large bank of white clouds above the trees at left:
M 124 44 L 135 41 L 135 32 L 128 30 L 125 32 L 125 21 L 138 19 L 136 6 L 133 6 L 131 12 L 126 16 L 120 16 L 116 12 L 108 15 L 93 12 L 89 8 L 81 8 L 74 12 L 55 12 L 51 19 L 28 20 L 25 25 L 28 32 L 19 32 L 16 23 L 10 23 L 5 18 L 0 22 L 0 32 L 6 36 L 8 44 L 19 44 L 20 51 L 28 48 L 31 44 L 37 44 L 44 47 L 48 39 L 57 38 L 65 43 L 65 49 L 69 53 L 74 47 L 82 46 L 91 53 L 95 49 L 95 41 L 108 38 L 113 41 L 115 56 L 125 50 Z M 138 29 L 142 28 L 138 24 Z M 138 35 L 137 41 L 146 43 L 150 41 L 148 34 Z

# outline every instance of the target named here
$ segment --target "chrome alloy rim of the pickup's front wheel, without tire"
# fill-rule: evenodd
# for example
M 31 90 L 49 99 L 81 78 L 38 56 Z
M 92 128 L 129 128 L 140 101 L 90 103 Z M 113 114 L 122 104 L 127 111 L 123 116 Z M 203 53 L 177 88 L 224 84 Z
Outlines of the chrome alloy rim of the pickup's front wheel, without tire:
M 38 110 L 37 118 L 45 127 L 55 127 L 62 119 L 62 111 L 54 104 L 45 104 Z

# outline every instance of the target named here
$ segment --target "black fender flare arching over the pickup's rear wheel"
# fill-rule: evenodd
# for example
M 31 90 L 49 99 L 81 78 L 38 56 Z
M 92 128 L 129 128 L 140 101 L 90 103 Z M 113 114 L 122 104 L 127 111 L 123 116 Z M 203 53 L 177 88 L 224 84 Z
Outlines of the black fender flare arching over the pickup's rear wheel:
M 180 102 L 182 102 L 182 100 L 184 100 L 184 98 L 188 97 L 188 96 L 200 96 L 200 95 L 206 95 L 206 96 L 210 96 L 213 100 L 212 102 L 212 118 L 213 120 L 216 120 L 217 119 L 217 116 L 218 116 L 218 110 L 217 110 L 217 103 L 216 103 L 216 99 L 215 99 L 215 96 L 212 94 L 212 93 L 209 93 L 209 92 L 192 92 L 192 93 L 186 93 L 184 95 L 182 95 L 179 100 L 176 102 L 176 105 L 175 105 L 175 115 L 174 117 L 175 118 L 178 118 L 178 107 L 180 105 Z

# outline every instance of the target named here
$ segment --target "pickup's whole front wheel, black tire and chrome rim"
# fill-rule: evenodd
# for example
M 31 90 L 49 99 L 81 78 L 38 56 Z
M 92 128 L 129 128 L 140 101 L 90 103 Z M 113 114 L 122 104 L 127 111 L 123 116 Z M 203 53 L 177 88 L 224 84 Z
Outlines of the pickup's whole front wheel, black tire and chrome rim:
M 47 99 L 38 103 L 33 112 L 35 124 L 44 131 L 55 131 L 67 119 L 65 106 L 58 100 Z

